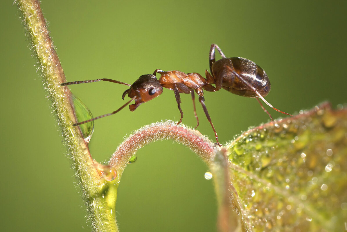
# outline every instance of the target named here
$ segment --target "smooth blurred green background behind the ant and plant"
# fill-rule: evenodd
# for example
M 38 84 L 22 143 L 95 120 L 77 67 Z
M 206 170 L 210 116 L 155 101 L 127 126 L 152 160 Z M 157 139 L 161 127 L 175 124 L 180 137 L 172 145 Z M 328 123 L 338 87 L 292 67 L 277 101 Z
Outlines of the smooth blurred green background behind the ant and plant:
M 16 5 L 1 1 L 1 231 L 90 231 L 59 126 L 24 35 Z M 67 81 L 133 83 L 155 69 L 204 74 L 211 43 L 259 64 L 271 80 L 266 99 L 288 113 L 328 100 L 346 102 L 346 1 L 42 1 Z M 219 56 L 218 56 L 219 57 Z M 123 104 L 125 86 L 71 86 L 94 116 Z M 205 93 L 220 142 L 269 121 L 254 99 Z M 183 122 L 196 124 L 189 95 Z M 267 107 L 269 109 L 269 107 Z M 273 117 L 283 117 L 269 109 Z M 214 141 L 203 110 L 198 130 Z M 179 119 L 174 93 L 136 111 L 95 122 L 93 157 L 107 161 L 123 137 Z M 117 199 L 120 231 L 216 231 L 213 183 L 205 164 L 171 141 L 141 149 Z

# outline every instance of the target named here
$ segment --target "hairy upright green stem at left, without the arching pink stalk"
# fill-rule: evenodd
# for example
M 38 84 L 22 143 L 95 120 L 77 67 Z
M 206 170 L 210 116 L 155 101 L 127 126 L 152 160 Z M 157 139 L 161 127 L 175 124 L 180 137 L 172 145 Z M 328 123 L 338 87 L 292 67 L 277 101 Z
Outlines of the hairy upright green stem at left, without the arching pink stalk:
M 60 86 L 61 83 L 66 82 L 65 75 L 46 27 L 40 2 L 21 0 L 18 2 L 18 7 L 22 12 L 26 34 L 31 39 L 32 50 L 40 65 L 44 85 L 48 90 L 58 124 L 73 160 L 93 230 L 117 231 L 115 214 L 110 214 L 112 208 L 108 207 L 110 202 L 115 202 L 113 198 L 116 194 L 113 186 L 116 183 L 105 184 L 106 181 L 100 178 L 79 127 L 72 125 L 76 122 L 72 95 L 67 87 Z M 112 197 L 102 197 L 101 193 L 105 187 L 109 190 L 107 193 L 112 193 Z

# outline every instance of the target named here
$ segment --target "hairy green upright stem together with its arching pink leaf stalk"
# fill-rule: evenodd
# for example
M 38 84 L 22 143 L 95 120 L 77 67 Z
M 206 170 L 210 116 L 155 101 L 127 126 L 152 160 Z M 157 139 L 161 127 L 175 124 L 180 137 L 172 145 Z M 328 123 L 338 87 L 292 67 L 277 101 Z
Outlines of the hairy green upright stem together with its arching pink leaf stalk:
M 119 175 L 117 178 L 105 178 L 101 171 L 107 174 L 111 167 L 93 160 L 81 130 L 79 127 L 73 126 L 73 123 L 76 122 L 73 96 L 67 87 L 60 86 L 61 83 L 66 82 L 66 79 L 54 50 L 40 2 L 20 0 L 18 8 L 22 12 L 26 34 L 31 40 L 33 53 L 41 68 L 44 86 L 48 90 L 52 107 L 57 114 L 58 124 L 73 160 L 93 231 L 118 231 L 115 213 L 117 187 L 121 173 L 131 157 L 130 154 L 135 149 L 149 142 L 173 139 L 187 145 L 205 162 L 211 161 L 211 154 L 214 151 L 213 144 L 206 137 L 184 126 L 164 123 L 152 127 L 147 126 L 122 143 L 110 162 L 114 164 L 113 169 L 116 169 Z

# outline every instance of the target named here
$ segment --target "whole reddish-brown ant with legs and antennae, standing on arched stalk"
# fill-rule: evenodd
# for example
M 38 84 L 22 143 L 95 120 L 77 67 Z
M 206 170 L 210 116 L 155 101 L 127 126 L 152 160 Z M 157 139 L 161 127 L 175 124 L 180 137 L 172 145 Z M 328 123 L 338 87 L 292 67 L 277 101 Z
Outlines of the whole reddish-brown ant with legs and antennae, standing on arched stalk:
M 215 61 L 216 49 L 222 57 L 222 59 L 218 61 Z M 88 81 L 66 82 L 66 83 L 62 83 L 61 86 L 67 86 L 69 84 L 90 83 L 90 82 L 97 82 L 97 81 L 110 81 L 113 83 L 130 86 L 130 88 L 125 90 L 122 95 L 123 100 L 126 95 L 128 95 L 128 97 L 131 98 L 128 102 L 126 102 L 126 104 L 122 105 L 119 109 L 117 109 L 116 111 L 113 111 L 112 113 L 91 118 L 83 122 L 75 123 L 73 124 L 74 126 L 81 125 L 81 124 L 88 123 L 102 117 L 116 114 L 125 106 L 129 105 L 130 102 L 132 102 L 133 100 L 135 100 L 135 103 L 132 105 L 129 105 L 129 109 L 130 111 L 134 111 L 142 103 L 152 100 L 155 97 L 158 97 L 163 92 L 163 88 L 167 88 L 174 91 L 175 98 L 177 101 L 177 106 L 181 114 L 181 118 L 179 122 L 177 123 L 177 125 L 182 122 L 182 118 L 183 118 L 183 112 L 181 110 L 181 98 L 179 94 L 180 93 L 191 94 L 192 100 L 193 100 L 194 115 L 197 121 L 197 125 L 196 125 L 197 127 L 199 125 L 199 119 L 196 115 L 196 109 L 195 109 L 195 94 L 194 94 L 194 91 L 195 91 L 197 95 L 199 96 L 198 100 L 205 112 L 205 115 L 208 121 L 210 122 L 212 126 L 217 144 L 219 146 L 221 146 L 221 144 L 218 141 L 217 132 L 214 129 L 213 123 L 211 121 L 211 117 L 205 105 L 203 89 L 209 92 L 215 92 L 223 88 L 236 95 L 255 98 L 259 102 L 262 109 L 270 116 L 271 121 L 272 121 L 272 117 L 270 113 L 263 107 L 259 98 L 262 99 L 272 109 L 277 110 L 278 112 L 282 114 L 293 116 L 291 114 L 285 113 L 279 109 L 274 108 L 269 102 L 267 102 L 264 99 L 264 97 L 268 95 L 268 93 L 270 92 L 271 84 L 270 84 L 268 75 L 266 75 L 265 71 L 253 61 L 245 59 L 245 58 L 241 58 L 241 57 L 227 58 L 222 52 L 222 50 L 218 47 L 218 45 L 212 44 L 210 49 L 209 62 L 210 62 L 211 74 L 207 70 L 205 70 L 206 79 L 196 72 L 186 74 L 180 71 L 166 72 L 160 69 L 156 69 L 153 72 L 153 74 L 142 75 L 133 84 L 127 84 L 124 82 L 103 78 L 103 79 L 88 80 Z M 159 73 L 161 75 L 159 80 L 155 77 L 156 73 Z M 215 87 L 212 86 L 212 84 L 214 84 Z

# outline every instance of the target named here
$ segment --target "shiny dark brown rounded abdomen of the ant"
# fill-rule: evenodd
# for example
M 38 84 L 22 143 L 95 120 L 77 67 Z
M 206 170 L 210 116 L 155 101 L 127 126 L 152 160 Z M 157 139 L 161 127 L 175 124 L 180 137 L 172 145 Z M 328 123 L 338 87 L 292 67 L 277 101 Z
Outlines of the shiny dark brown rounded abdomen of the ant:
M 245 83 L 251 84 L 261 96 L 270 92 L 271 84 L 266 72 L 256 63 L 242 57 L 223 58 L 213 63 L 212 75 L 216 83 L 216 90 L 221 88 L 244 97 L 259 97 L 256 92 Z M 244 79 L 240 78 L 235 72 Z

